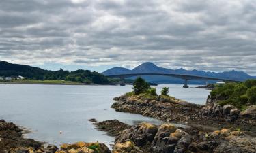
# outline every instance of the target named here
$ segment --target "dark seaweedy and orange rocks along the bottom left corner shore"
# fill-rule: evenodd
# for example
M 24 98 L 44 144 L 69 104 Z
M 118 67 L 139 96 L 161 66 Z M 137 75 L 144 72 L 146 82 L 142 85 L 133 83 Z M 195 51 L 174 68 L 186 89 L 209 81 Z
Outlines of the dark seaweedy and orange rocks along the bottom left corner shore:
M 57 146 L 25 139 L 22 132 L 14 123 L 0 120 L 0 153 L 111 153 L 102 143 L 63 144 L 59 149 Z

